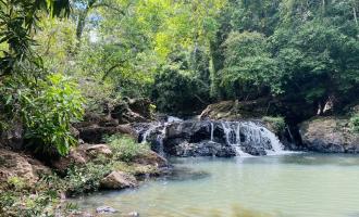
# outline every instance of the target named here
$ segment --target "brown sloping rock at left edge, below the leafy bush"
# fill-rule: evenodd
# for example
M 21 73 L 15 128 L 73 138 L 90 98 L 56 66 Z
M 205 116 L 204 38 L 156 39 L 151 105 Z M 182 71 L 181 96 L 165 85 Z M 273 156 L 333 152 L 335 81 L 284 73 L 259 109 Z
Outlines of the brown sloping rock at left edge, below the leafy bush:
M 0 181 L 18 177 L 33 184 L 44 174 L 51 174 L 51 170 L 39 161 L 12 151 L 0 150 Z

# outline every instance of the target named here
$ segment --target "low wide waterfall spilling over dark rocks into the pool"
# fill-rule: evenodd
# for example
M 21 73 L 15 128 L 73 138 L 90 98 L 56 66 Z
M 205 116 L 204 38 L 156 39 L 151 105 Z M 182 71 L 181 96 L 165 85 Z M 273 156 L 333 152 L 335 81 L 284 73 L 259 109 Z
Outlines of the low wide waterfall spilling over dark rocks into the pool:
M 151 143 L 152 149 L 160 155 L 165 154 L 164 150 L 173 151 L 173 145 L 186 144 L 190 140 L 193 140 L 190 145 L 178 146 L 178 150 L 188 149 L 183 153 L 194 150 L 194 153 L 198 154 L 200 151 L 205 153 L 213 149 L 213 145 L 218 145 L 214 148 L 214 154 L 221 150 L 221 154 L 233 155 L 235 152 L 235 155 L 242 157 L 286 153 L 278 138 L 262 124 L 256 122 L 182 120 L 169 116 L 166 122 L 145 126 L 146 128 L 139 127 L 137 131 L 141 135 L 140 142 Z M 169 142 L 170 146 L 166 146 L 168 143 L 164 142 Z

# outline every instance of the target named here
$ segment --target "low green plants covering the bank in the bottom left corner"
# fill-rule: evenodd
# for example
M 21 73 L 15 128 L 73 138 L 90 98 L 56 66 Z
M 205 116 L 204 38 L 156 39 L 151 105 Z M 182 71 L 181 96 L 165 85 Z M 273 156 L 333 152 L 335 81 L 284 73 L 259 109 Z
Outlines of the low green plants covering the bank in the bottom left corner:
M 61 186 L 65 184 L 55 176 L 44 177 L 35 184 L 29 184 L 20 177 L 12 177 L 0 188 L 0 216 L 67 216 L 76 206 L 71 203 L 58 206 Z

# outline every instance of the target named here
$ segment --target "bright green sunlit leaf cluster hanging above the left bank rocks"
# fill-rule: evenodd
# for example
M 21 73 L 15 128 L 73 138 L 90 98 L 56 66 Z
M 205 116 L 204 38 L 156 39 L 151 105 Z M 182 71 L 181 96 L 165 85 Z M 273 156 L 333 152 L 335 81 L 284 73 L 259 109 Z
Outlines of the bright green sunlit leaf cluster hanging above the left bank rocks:
M 71 123 L 82 118 L 84 99 L 76 85 L 61 74 L 50 75 L 37 85 L 38 94 L 22 93 L 25 137 L 40 141 L 45 150 L 52 145 L 60 154 L 67 154 L 70 148 L 77 144 L 71 133 Z

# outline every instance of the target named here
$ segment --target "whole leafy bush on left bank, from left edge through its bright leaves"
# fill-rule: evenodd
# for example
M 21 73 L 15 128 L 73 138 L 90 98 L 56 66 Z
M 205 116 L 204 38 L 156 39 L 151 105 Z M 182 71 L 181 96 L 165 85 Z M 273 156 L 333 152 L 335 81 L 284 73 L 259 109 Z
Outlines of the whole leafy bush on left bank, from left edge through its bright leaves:
M 75 82 L 61 74 L 45 79 L 11 77 L 0 87 L 0 102 L 8 116 L 21 119 L 25 138 L 36 144 L 35 151 L 55 148 L 64 155 L 77 143 L 71 124 L 82 118 L 84 99 Z

